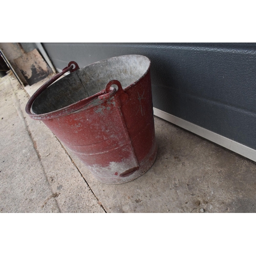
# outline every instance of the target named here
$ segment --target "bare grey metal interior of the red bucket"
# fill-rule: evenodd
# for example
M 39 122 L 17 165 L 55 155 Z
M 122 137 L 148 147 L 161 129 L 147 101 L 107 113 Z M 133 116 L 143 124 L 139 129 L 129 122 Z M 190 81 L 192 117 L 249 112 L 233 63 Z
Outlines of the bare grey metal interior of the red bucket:
M 150 67 L 150 60 L 141 55 L 124 55 L 105 59 L 59 79 L 42 92 L 32 104 L 34 114 L 46 114 L 65 108 L 103 90 L 113 79 L 122 88 L 143 77 Z

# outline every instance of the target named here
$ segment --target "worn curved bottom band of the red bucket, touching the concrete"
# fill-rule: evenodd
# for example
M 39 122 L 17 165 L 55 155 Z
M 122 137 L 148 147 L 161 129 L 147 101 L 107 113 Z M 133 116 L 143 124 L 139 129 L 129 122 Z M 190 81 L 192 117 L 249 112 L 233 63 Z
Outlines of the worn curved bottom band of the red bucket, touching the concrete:
M 132 173 L 129 176 L 126 177 L 120 177 L 120 176 L 115 176 L 111 178 L 106 178 L 106 177 L 100 177 L 95 174 L 93 176 L 100 182 L 106 183 L 106 184 L 122 184 L 126 183 L 129 181 L 133 181 L 143 174 L 145 174 L 154 164 L 156 157 L 157 157 L 157 143 L 155 142 L 155 145 L 152 147 L 153 148 L 153 153 L 151 151 L 151 154 L 148 154 L 148 156 L 140 163 L 140 168 L 137 169 L 134 173 Z

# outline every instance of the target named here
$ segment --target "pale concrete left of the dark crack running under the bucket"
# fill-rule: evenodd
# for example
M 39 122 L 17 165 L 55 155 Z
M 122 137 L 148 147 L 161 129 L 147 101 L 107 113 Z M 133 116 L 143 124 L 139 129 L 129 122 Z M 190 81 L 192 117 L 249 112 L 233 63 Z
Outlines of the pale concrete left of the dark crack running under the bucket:
M 58 139 L 26 114 L 16 80 L 1 81 L 1 97 L 2 212 L 105 212 Z

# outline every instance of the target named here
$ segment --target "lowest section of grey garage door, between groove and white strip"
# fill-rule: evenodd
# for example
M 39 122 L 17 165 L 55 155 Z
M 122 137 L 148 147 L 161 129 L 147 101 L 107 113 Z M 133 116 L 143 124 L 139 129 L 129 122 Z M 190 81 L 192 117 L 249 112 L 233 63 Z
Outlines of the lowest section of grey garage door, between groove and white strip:
M 153 89 L 153 95 L 155 90 L 156 88 Z M 158 90 L 161 94 L 158 93 L 157 98 L 154 99 L 156 109 L 255 149 L 256 113 L 175 92 L 172 89 L 160 88 Z

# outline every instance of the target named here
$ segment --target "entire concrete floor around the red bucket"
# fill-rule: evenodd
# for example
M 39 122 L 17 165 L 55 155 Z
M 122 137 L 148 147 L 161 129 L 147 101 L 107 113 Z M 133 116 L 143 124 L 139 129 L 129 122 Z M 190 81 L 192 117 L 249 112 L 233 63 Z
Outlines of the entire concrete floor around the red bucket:
M 152 168 L 108 185 L 26 114 L 29 95 L 11 74 L 0 97 L 0 212 L 256 212 L 254 162 L 158 117 Z

